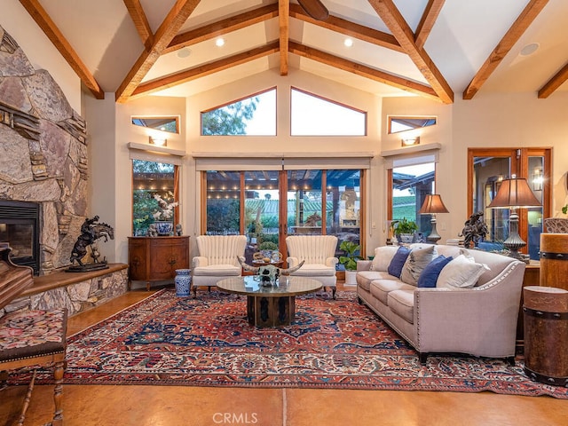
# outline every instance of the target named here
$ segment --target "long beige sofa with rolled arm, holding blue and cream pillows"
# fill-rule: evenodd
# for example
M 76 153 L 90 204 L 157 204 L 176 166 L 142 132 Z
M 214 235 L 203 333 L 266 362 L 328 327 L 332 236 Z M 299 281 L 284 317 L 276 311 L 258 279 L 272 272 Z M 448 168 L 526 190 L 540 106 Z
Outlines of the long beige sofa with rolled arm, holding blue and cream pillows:
M 429 246 L 414 244 L 411 248 Z M 373 261 L 358 262 L 359 303 L 367 304 L 414 346 L 422 363 L 430 352 L 506 358 L 514 363 L 523 262 L 476 249 L 438 245 L 436 256 L 455 258 L 462 253 L 486 267 L 473 288 L 440 288 L 444 283 L 439 280 L 436 288 L 418 288 L 387 271 L 389 257 L 396 250 L 376 248 Z M 440 273 L 439 278 L 444 275 Z

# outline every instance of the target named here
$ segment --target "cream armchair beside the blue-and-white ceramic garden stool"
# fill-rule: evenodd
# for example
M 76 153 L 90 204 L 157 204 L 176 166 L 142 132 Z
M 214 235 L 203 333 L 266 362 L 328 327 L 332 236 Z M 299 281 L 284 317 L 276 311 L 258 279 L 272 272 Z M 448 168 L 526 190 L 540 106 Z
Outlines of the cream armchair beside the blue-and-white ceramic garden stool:
M 193 257 L 192 287 L 197 296 L 198 287 L 217 285 L 218 280 L 241 276 L 241 265 L 237 256 L 244 261 L 247 237 L 245 235 L 200 235 L 197 237 L 199 256 Z

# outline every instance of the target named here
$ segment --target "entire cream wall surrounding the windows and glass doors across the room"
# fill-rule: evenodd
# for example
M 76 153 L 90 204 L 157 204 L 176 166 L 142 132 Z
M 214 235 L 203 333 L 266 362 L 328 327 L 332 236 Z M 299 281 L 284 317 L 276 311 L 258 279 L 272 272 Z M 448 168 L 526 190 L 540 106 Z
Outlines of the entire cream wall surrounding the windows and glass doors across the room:
M 200 112 L 212 106 L 222 105 L 233 99 L 241 99 L 251 93 L 278 88 L 278 135 L 275 137 L 202 137 Z M 294 86 L 312 91 L 320 96 L 355 106 L 368 112 L 368 135 L 359 138 L 297 138 L 289 136 L 289 90 Z M 96 105 L 97 101 L 95 102 Z M 106 101 L 105 101 L 106 102 Z M 182 105 L 185 102 L 185 105 Z M 421 146 L 431 143 L 441 145 L 437 168 L 437 192 L 442 194 L 449 214 L 438 215 L 438 233 L 442 241 L 455 238 L 467 219 L 467 148 L 470 146 L 553 146 L 554 149 L 554 205 L 558 211 L 566 201 L 564 186 L 568 159 L 562 154 L 564 140 L 568 137 L 568 94 L 556 93 L 550 99 L 536 99 L 533 93 L 517 95 L 483 95 L 472 100 L 456 99 L 453 105 L 444 105 L 429 99 L 416 97 L 378 99 L 367 92 L 328 82 L 315 75 L 295 71 L 281 77 L 276 71 L 250 76 L 238 83 L 221 86 L 201 93 L 191 99 L 164 99 L 149 97 L 115 108 L 115 170 L 114 206 L 108 205 L 93 194 L 93 211 L 109 209 L 116 213 L 117 241 L 115 261 L 126 262 L 127 237 L 131 233 L 131 175 L 130 154 L 126 144 L 147 144 L 147 136 L 130 124 L 132 114 L 180 114 L 185 134 L 172 139 L 169 147 L 185 150 L 183 160 L 181 217 L 185 234 L 195 236 L 200 224 L 200 181 L 195 172 L 192 154 L 226 153 L 256 156 L 272 151 L 284 153 L 343 153 L 372 152 L 375 157 L 369 170 L 367 193 L 367 247 L 366 254 L 383 245 L 387 230 L 386 170 L 380 153 L 400 147 L 400 135 L 386 133 L 386 117 L 394 115 L 436 115 L 438 125 L 423 129 Z M 94 146 L 93 146 L 93 149 Z M 96 157 L 95 157 L 96 158 Z M 95 161 L 93 158 L 93 162 Z M 107 174 L 107 164 L 93 164 L 93 187 L 100 173 Z M 98 189 L 97 189 L 98 190 Z M 96 201 L 99 200 L 99 201 Z M 96 202 L 95 202 L 96 201 Z M 97 210 L 99 211 L 99 210 Z M 194 238 L 192 252 L 194 253 Z

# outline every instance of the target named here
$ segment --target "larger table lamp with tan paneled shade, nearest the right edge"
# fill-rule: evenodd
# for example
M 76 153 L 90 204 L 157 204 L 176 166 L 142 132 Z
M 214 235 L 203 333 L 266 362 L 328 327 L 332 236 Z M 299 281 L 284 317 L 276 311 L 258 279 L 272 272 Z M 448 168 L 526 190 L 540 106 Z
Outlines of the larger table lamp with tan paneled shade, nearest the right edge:
M 503 179 L 497 195 L 487 208 L 511 210 L 509 238 L 503 242 L 503 247 L 509 249 L 509 256 L 521 259 L 518 250 L 526 246 L 526 242 L 518 234 L 517 209 L 538 206 L 540 206 L 540 201 L 534 196 L 525 178 L 512 175 L 509 179 Z

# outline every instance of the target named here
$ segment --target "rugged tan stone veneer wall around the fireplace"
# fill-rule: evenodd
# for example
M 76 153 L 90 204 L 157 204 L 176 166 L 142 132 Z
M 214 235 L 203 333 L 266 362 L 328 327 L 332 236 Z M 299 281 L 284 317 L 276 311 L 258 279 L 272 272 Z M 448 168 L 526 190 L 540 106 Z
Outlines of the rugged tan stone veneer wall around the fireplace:
M 0 27 L 0 200 L 40 203 L 41 274 L 70 264 L 87 211 L 87 158 L 85 122 Z

